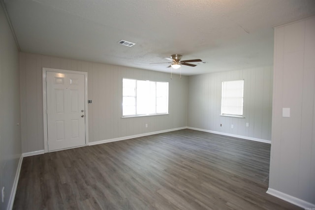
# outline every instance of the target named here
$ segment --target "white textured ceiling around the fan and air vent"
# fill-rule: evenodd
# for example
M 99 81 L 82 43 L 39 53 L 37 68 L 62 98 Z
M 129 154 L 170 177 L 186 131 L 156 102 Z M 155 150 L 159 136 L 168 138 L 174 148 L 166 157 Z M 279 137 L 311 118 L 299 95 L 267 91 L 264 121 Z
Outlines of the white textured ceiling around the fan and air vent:
M 4 0 L 23 52 L 182 74 L 273 64 L 273 27 L 315 15 L 315 0 Z M 133 47 L 119 45 L 124 39 Z

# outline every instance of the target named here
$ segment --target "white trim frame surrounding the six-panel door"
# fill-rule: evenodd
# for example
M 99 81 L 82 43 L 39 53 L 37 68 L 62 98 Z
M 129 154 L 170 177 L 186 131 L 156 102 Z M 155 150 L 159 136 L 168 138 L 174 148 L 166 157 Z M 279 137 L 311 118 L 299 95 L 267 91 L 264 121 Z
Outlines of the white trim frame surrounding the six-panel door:
M 84 75 L 85 146 L 89 145 L 88 72 L 43 67 L 43 74 L 42 74 L 43 76 L 43 116 L 44 116 L 43 121 L 44 121 L 44 151 L 45 153 L 50 152 L 48 151 L 48 132 L 47 132 L 47 85 L 46 85 L 47 71 Z M 79 147 L 82 147 L 82 146 L 79 146 Z M 70 149 L 70 148 L 66 148 L 66 149 Z

